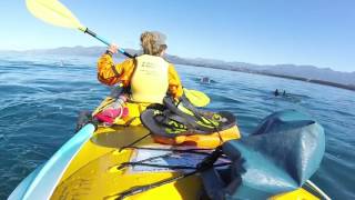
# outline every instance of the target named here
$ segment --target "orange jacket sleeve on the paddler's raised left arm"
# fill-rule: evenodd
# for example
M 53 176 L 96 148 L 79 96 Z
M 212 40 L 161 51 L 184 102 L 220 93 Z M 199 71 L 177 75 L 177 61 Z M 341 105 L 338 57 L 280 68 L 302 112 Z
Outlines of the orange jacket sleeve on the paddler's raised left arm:
M 132 76 L 133 60 L 126 59 L 122 63 L 114 64 L 110 53 L 102 54 L 98 60 L 98 79 L 100 82 L 113 86 L 120 81 L 128 84 Z

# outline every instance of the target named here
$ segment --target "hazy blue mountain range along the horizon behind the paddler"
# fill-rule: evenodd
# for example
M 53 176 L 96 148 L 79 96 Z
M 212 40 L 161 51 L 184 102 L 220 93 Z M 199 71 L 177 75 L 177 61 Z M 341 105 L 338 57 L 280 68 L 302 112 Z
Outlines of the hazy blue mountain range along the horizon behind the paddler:
M 62 47 L 57 49 L 40 49 L 21 51 L 21 53 L 36 54 L 63 54 L 63 56 L 88 56 L 99 57 L 105 51 L 105 47 Z M 131 54 L 140 54 L 141 51 L 134 49 L 125 49 Z M 8 51 L 9 52 L 9 51 Z M 12 51 L 19 52 L 19 51 Z M 123 56 L 119 56 L 123 58 Z M 341 72 L 329 68 L 317 68 L 314 66 L 296 66 L 296 64 L 275 64 L 261 66 L 245 62 L 226 62 L 214 59 L 187 59 L 178 56 L 166 54 L 166 60 L 176 64 L 197 66 L 206 68 L 216 68 L 223 70 L 241 71 L 247 73 L 258 73 L 265 76 L 282 77 L 321 84 L 328 84 L 345 89 L 355 90 L 355 71 Z

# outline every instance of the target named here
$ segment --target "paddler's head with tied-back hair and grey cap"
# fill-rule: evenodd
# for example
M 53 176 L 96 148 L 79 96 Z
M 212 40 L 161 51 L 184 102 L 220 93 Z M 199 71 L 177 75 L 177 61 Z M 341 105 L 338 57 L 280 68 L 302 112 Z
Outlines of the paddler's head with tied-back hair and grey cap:
M 144 54 L 163 56 L 168 46 L 166 37 L 158 31 L 145 31 L 141 34 L 141 46 Z

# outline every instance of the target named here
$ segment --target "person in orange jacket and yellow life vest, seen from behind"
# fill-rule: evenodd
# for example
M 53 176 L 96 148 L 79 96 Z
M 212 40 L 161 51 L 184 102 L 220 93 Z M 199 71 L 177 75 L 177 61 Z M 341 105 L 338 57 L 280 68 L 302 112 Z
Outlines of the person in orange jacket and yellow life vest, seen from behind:
M 143 32 L 143 54 L 118 64 L 113 63 L 112 56 L 119 48 L 111 44 L 98 61 L 98 79 L 108 86 L 121 82 L 130 87 L 132 102 L 162 103 L 166 92 L 179 99 L 183 94 L 179 74 L 174 66 L 162 58 L 168 48 L 165 40 L 161 32 Z

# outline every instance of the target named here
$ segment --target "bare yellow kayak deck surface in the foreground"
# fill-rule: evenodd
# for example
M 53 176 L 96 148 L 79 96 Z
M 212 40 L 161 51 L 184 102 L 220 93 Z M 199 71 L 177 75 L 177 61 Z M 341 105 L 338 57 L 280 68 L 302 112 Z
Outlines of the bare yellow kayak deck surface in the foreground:
M 118 167 L 129 162 L 134 153 L 132 149 L 120 151 L 119 148 L 148 133 L 143 127 L 100 128 L 67 169 L 51 199 L 115 199 L 118 193 L 136 186 L 179 176 L 179 172 L 172 171 L 132 173 L 129 168 L 118 170 Z M 144 143 L 152 143 L 152 140 L 148 138 L 140 142 Z M 201 190 L 200 178 L 192 176 L 131 198 L 197 199 Z

